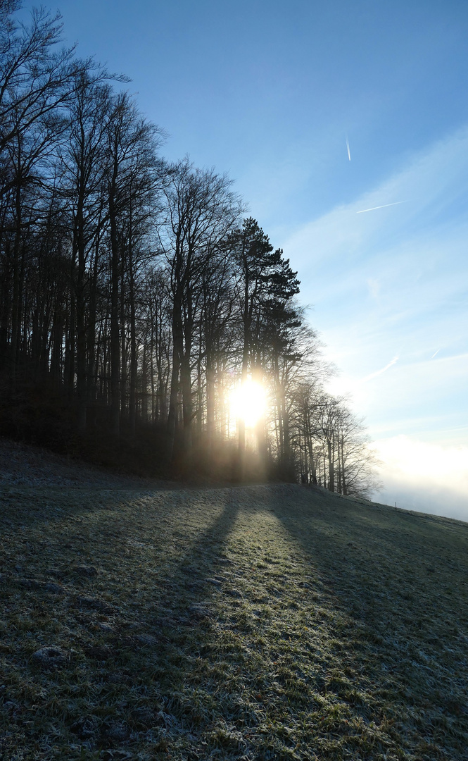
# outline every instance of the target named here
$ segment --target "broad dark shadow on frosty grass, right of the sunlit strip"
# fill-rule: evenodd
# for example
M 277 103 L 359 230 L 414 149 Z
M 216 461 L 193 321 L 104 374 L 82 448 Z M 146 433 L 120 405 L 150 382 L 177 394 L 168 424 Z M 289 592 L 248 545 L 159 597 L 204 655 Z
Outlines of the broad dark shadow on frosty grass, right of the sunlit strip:
M 292 510 L 274 492 L 270 510 L 310 562 L 315 605 L 330 613 L 328 635 L 343 670 L 330 692 L 367 721 L 386 715 L 418 758 L 462 752 L 468 606 L 466 593 L 444 594 L 450 581 L 463 589 L 462 574 L 444 574 L 444 527 L 430 531 L 417 516 L 299 487 L 289 493 Z

